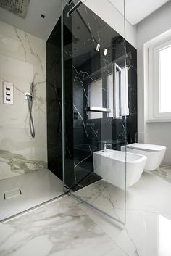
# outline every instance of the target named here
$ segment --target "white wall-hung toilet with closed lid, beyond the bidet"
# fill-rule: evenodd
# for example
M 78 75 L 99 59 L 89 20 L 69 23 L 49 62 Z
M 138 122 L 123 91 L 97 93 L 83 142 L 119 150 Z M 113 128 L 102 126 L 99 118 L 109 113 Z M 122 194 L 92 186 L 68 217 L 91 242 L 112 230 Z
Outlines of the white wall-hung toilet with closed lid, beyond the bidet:
M 127 152 L 132 152 L 135 154 L 142 154 L 147 157 L 145 170 L 155 170 L 159 168 L 161 164 L 166 146 L 159 146 L 153 144 L 141 144 L 141 143 L 133 143 L 128 144 Z M 121 151 L 125 151 L 125 146 L 121 146 Z

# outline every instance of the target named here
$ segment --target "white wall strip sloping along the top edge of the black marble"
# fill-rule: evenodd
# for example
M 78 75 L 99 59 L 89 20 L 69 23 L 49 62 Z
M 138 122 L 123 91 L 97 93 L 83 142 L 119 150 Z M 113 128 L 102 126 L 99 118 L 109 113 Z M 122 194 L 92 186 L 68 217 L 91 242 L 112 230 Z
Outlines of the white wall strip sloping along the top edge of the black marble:
M 114 28 L 117 33 L 125 36 L 124 17 L 110 1 L 86 0 L 84 4 Z M 124 1 L 122 0 L 123 4 Z M 124 5 L 122 9 L 124 10 Z M 128 21 L 126 21 L 126 40 L 136 48 L 136 26 L 131 25 Z

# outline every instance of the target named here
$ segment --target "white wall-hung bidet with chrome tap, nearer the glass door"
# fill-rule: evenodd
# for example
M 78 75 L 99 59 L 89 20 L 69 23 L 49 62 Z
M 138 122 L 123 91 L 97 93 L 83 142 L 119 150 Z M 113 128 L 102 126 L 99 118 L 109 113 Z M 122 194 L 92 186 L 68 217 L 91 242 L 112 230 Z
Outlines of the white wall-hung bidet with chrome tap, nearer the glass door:
M 93 152 L 94 173 L 98 174 L 109 183 L 125 187 L 125 159 L 126 159 L 126 186 L 136 183 L 143 173 L 146 165 L 146 157 L 125 152 L 106 149 Z

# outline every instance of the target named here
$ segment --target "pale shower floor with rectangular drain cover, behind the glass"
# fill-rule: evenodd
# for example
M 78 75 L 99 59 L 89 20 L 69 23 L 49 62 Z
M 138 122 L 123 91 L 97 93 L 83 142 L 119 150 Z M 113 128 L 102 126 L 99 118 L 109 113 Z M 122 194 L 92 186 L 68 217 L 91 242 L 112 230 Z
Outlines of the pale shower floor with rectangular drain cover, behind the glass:
M 62 181 L 47 169 L 1 180 L 0 221 L 62 194 Z

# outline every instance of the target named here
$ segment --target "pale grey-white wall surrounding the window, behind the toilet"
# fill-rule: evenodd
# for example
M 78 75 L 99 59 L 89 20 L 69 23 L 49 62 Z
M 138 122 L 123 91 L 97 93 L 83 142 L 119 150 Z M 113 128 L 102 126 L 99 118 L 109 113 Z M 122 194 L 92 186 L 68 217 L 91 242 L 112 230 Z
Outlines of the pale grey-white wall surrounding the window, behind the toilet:
M 167 146 L 164 162 L 171 165 L 171 123 L 146 123 L 149 117 L 144 44 L 171 28 L 171 1 L 137 25 L 139 141 Z

